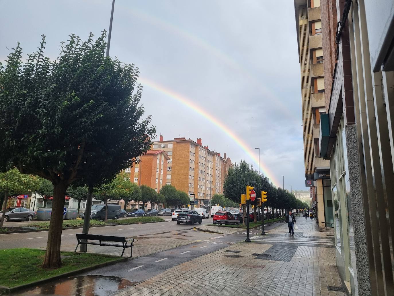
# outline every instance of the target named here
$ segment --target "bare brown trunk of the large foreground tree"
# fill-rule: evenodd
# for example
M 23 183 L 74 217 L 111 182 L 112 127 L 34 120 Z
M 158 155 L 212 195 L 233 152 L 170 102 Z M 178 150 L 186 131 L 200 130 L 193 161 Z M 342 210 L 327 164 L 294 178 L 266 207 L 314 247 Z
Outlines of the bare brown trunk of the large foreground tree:
M 52 215 L 50 217 L 48 242 L 46 243 L 42 268 L 56 269 L 61 266 L 61 229 L 63 228 L 63 208 L 67 187 L 63 183 L 54 184 Z

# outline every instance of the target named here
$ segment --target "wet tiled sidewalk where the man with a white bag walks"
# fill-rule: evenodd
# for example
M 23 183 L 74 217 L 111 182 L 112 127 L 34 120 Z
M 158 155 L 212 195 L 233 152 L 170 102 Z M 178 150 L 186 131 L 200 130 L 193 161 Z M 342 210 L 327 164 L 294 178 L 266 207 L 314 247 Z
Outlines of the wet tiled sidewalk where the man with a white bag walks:
M 165 270 L 130 289 L 128 295 L 319 295 L 346 296 L 335 265 L 333 238 L 319 232 L 316 222 L 297 219 L 289 237 L 287 225 Z

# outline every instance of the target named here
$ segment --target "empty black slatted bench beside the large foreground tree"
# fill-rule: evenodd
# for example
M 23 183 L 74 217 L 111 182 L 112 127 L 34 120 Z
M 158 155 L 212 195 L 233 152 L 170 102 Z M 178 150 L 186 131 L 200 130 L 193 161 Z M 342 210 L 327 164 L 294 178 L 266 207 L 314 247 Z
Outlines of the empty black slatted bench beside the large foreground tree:
M 126 248 L 131 248 L 130 258 L 133 256 L 134 238 L 126 241 L 125 236 L 109 236 L 109 235 L 77 233 L 76 240 L 78 241 L 78 244 L 76 245 L 74 253 L 76 252 L 76 249 L 78 249 L 78 245 L 101 245 L 101 246 L 105 245 L 110 247 L 123 248 L 121 257 L 123 257 L 123 253 L 125 253 Z M 132 242 L 131 244 L 128 245 L 128 242 L 130 241 Z M 117 242 L 122 244 L 108 244 L 108 242 Z

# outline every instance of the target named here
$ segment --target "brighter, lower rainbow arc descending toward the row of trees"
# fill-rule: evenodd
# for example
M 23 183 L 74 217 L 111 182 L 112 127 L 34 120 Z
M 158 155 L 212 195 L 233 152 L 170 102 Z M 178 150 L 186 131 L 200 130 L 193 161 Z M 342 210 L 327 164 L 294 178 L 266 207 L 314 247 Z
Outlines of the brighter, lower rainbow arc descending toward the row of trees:
M 240 139 L 240 137 L 238 137 L 236 134 L 234 134 L 227 126 L 217 120 L 214 116 L 212 116 L 212 114 L 206 112 L 200 106 L 195 104 L 190 98 L 177 94 L 173 90 L 164 88 L 163 86 L 160 86 L 156 82 L 153 82 L 149 79 L 139 78 L 138 82 L 141 82 L 143 86 L 148 86 L 149 88 L 152 88 L 153 90 L 156 90 L 157 92 L 160 92 L 165 96 L 170 97 L 171 99 L 175 99 L 179 103 L 182 103 L 186 107 L 190 108 L 194 112 L 200 114 L 201 116 L 212 122 L 215 126 L 219 127 L 219 129 L 221 129 L 226 135 L 233 139 L 234 142 L 236 142 L 236 144 L 240 146 L 242 150 L 255 162 L 255 164 L 258 165 L 258 157 L 252 153 L 253 148 L 247 146 L 245 142 L 243 142 L 243 140 Z M 278 184 L 280 184 L 278 180 L 274 177 L 274 174 L 269 171 L 268 167 L 262 162 L 261 159 L 260 170 L 263 172 L 264 176 L 268 177 L 274 185 L 278 186 Z

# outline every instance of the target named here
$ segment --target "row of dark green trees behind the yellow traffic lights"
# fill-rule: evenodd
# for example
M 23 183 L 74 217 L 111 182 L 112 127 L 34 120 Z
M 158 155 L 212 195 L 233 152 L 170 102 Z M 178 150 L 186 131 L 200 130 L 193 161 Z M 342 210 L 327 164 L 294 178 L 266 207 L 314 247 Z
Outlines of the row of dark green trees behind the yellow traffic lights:
M 229 169 L 228 175 L 225 177 L 223 184 L 223 194 L 228 199 L 241 203 L 241 194 L 245 194 L 246 186 L 252 185 L 256 191 L 256 198 L 261 198 L 261 191 L 267 191 L 267 202 L 264 206 L 275 209 L 277 217 L 283 217 L 285 211 L 289 209 L 303 209 L 307 208 L 308 205 L 301 200 L 296 199 L 294 194 L 277 188 L 269 179 L 263 174 L 258 174 L 253 169 L 253 165 L 249 165 L 246 161 L 241 161 L 240 164 L 235 164 L 234 167 Z M 245 206 L 243 212 L 245 213 Z M 256 207 L 255 222 L 257 219 Z

